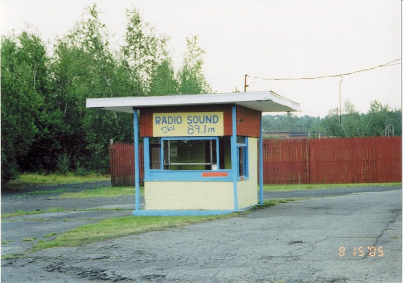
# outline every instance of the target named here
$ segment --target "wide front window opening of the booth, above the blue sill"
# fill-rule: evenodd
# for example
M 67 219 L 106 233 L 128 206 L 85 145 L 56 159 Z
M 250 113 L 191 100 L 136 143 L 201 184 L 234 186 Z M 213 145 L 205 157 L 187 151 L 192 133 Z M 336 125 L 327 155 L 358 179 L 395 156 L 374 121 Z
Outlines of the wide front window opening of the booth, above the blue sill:
M 231 169 L 230 147 L 229 137 L 150 138 L 150 169 Z

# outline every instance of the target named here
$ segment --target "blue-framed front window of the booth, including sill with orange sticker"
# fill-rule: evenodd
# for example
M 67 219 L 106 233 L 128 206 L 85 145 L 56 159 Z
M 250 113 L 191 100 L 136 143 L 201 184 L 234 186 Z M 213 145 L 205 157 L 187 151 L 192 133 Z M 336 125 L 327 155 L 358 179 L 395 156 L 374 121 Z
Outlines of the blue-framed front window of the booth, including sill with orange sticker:
M 231 136 L 144 137 L 144 180 L 232 181 L 231 139 Z

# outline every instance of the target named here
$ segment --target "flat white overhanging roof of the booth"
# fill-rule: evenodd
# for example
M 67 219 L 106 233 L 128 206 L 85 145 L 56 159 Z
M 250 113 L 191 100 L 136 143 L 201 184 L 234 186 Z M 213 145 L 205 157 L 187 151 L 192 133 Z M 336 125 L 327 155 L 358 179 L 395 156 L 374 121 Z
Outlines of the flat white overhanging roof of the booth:
M 86 106 L 87 108 L 132 113 L 133 108 L 207 104 L 236 104 L 261 112 L 301 111 L 298 102 L 278 95 L 271 90 L 235 93 L 87 98 Z

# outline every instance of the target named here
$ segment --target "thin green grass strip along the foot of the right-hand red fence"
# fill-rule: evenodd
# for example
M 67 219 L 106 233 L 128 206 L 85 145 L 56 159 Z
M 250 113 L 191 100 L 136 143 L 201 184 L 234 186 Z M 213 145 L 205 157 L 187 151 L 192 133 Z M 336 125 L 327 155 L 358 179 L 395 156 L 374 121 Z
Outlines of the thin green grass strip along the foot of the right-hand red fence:
M 294 190 L 321 190 L 329 188 L 354 188 L 368 186 L 401 186 L 401 183 L 363 183 L 363 184 L 292 184 L 292 185 L 263 185 L 266 192 L 273 191 L 294 191 Z

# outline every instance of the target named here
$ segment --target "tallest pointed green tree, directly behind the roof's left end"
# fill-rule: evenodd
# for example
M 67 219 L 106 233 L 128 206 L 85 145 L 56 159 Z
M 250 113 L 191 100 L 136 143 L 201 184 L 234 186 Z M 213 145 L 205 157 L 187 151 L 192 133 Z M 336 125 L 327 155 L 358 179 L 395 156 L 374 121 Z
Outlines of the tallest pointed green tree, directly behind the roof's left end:
M 106 27 L 96 5 L 88 7 L 72 31 L 55 46 L 55 85 L 63 121 L 69 125 L 62 138 L 62 156 L 73 169 L 105 171 L 109 165 L 108 142 L 132 137 L 131 116 L 86 108 L 87 97 L 113 97 L 133 88 L 129 75 L 117 66 L 109 49 Z M 61 159 L 64 160 L 64 159 Z

